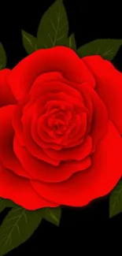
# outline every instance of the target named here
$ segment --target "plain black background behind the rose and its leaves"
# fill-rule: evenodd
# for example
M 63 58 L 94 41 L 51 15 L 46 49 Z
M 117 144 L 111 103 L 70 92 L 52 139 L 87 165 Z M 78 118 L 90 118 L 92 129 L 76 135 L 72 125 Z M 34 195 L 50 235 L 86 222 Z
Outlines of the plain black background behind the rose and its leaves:
M 27 7 L 19 2 L 8 6 L 6 2 L 6 5 L 2 6 L 0 41 L 6 50 L 7 68 L 12 69 L 28 55 L 22 45 L 20 30 L 24 29 L 36 36 L 39 20 L 53 2 L 35 0 L 29 2 Z M 94 39 L 122 39 L 120 6 L 117 2 L 114 6 L 110 4 L 107 6 L 107 3 L 103 1 L 96 4 L 95 1 L 79 0 L 64 1 L 64 4 L 68 14 L 69 34 L 75 32 L 77 47 Z M 6 6 L 9 9 L 8 12 Z M 113 59 L 113 65 L 122 72 L 122 49 Z M 7 210 L 1 214 L 1 221 L 6 213 Z M 109 219 L 109 196 L 105 196 L 94 200 L 82 209 L 63 208 L 59 228 L 43 220 L 26 243 L 6 255 L 42 255 L 47 251 L 52 254 L 54 250 L 57 250 L 59 254 L 65 245 L 68 249 L 76 247 L 79 251 L 82 251 L 85 245 L 84 248 L 87 251 L 86 244 L 94 241 L 94 245 L 96 241 L 99 241 L 102 246 L 111 235 L 117 238 L 118 230 L 121 229 L 122 214 Z

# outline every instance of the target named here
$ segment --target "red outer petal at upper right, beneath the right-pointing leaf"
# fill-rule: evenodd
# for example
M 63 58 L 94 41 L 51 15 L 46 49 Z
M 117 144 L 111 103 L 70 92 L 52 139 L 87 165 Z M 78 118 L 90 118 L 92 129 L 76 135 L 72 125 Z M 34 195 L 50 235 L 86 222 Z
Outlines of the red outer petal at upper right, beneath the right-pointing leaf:
M 122 73 L 100 56 L 82 58 L 97 80 L 97 91 L 109 111 L 109 117 L 122 134 Z

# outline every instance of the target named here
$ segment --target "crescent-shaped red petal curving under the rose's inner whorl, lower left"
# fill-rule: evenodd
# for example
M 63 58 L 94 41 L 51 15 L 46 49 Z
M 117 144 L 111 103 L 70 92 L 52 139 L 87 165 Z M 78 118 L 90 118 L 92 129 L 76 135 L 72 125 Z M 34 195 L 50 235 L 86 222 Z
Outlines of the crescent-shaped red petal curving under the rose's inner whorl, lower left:
M 61 182 L 67 180 L 73 173 L 87 169 L 91 165 L 91 158 L 85 158 L 83 161 L 61 162 L 58 166 L 50 165 L 34 158 L 25 147 L 20 147 L 16 138 L 13 147 L 21 165 L 35 180 L 51 183 Z

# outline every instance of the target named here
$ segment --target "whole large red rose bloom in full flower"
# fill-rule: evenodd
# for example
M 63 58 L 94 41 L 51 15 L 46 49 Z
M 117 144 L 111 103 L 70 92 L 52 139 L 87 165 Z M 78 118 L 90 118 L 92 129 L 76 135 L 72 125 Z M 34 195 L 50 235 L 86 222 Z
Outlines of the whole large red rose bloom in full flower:
M 122 173 L 122 74 L 100 56 L 37 50 L 0 72 L 0 197 L 84 206 Z

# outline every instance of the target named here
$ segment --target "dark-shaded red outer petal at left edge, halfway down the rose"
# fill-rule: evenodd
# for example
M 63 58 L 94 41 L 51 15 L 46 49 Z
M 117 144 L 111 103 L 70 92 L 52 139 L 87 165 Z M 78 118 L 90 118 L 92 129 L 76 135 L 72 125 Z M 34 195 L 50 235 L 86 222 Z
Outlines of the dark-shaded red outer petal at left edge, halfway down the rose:
M 13 151 L 14 131 L 11 119 L 15 108 L 14 105 L 0 108 L 0 162 L 17 175 L 29 178 L 31 176 L 20 165 Z

